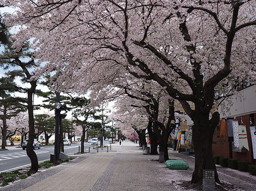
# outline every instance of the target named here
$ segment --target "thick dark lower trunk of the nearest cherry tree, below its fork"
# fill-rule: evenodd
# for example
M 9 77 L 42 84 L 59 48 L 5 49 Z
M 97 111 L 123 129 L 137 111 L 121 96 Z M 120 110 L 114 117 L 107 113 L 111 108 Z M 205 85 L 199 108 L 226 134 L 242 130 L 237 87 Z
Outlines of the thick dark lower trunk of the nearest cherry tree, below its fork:
M 220 183 L 216 171 L 216 166 L 212 156 L 213 132 L 219 122 L 219 113 L 214 113 L 211 120 L 209 115 L 200 113 L 195 117 L 193 126 L 193 146 L 195 151 L 195 169 L 192 175 L 192 183 L 202 182 L 202 170 L 209 169 L 215 171 L 215 181 Z

